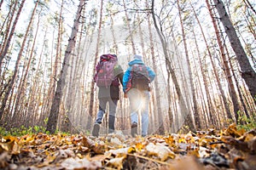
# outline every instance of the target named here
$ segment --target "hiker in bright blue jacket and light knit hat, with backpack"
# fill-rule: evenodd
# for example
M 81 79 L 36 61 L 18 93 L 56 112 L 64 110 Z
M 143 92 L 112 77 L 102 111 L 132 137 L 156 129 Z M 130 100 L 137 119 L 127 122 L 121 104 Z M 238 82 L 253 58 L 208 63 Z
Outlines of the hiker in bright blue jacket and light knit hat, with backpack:
M 150 99 L 150 82 L 155 73 L 143 63 L 143 56 L 135 54 L 123 77 L 123 91 L 129 98 L 131 108 L 131 136 L 137 134 L 138 112 L 142 116 L 142 136 L 148 135 L 148 105 Z

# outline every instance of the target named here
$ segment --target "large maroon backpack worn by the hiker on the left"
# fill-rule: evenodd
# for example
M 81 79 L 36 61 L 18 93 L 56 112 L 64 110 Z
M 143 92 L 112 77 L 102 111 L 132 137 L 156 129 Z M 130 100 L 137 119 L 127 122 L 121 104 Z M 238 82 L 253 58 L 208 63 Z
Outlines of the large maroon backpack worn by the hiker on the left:
M 119 85 L 117 77 L 114 76 L 114 66 L 117 64 L 117 56 L 115 54 L 103 54 L 100 61 L 96 65 L 96 74 L 94 81 L 99 88 L 108 88 L 112 84 Z

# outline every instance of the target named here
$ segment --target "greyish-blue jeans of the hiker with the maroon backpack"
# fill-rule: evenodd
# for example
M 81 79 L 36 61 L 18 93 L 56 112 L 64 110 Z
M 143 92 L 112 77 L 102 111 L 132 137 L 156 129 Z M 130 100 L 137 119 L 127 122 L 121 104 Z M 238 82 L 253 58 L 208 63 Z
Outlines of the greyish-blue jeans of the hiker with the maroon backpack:
M 100 98 L 99 99 L 99 111 L 96 117 L 96 123 L 102 124 L 102 118 L 104 113 L 106 112 L 106 106 L 108 103 L 109 107 L 109 116 L 108 116 L 108 131 L 114 131 L 114 121 L 115 121 L 115 113 L 118 99 L 111 98 Z

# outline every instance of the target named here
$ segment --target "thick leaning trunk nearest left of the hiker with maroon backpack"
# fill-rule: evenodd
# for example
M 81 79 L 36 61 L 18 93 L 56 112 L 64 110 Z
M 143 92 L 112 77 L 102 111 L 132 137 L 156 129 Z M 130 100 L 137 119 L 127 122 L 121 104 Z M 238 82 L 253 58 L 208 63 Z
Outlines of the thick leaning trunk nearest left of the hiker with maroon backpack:
M 49 133 L 55 133 L 55 130 L 57 127 L 57 121 L 60 114 L 61 99 L 63 96 L 63 90 L 65 88 L 65 82 L 66 82 L 66 76 L 67 76 L 67 69 L 68 69 L 67 64 L 69 63 L 70 55 L 72 54 L 73 48 L 75 46 L 76 36 L 79 30 L 79 20 L 80 20 L 81 11 L 84 5 L 85 5 L 85 0 L 80 0 L 79 8 L 76 13 L 76 18 L 73 23 L 71 36 L 68 39 L 67 49 L 65 51 L 65 56 L 62 63 L 60 79 L 57 82 L 55 97 L 49 112 L 49 120 L 47 122 L 47 128 L 46 128 L 46 130 L 49 131 Z

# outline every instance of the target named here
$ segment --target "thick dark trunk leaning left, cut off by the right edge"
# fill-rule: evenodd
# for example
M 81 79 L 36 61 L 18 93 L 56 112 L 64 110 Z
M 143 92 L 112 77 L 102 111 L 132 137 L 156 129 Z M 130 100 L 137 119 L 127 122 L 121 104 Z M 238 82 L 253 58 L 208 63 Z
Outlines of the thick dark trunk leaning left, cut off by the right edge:
M 236 59 L 241 67 L 241 77 L 247 83 L 247 87 L 251 95 L 253 96 L 254 103 L 256 103 L 256 73 L 253 71 L 252 66 L 250 65 L 247 54 L 244 51 L 244 48 L 241 46 L 239 37 L 236 35 L 236 30 L 230 21 L 230 17 L 226 12 L 224 3 L 221 0 L 213 0 L 215 6 L 218 10 L 220 21 L 222 22 L 226 34 L 230 39 L 231 47 L 233 48 Z

